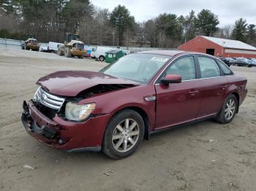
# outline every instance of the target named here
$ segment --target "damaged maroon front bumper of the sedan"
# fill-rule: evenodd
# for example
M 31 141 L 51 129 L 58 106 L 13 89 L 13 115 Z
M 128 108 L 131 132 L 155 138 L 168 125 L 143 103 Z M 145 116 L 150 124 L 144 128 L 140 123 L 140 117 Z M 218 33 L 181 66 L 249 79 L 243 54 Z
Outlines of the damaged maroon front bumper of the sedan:
M 23 102 L 21 120 L 26 132 L 49 147 L 67 151 L 100 151 L 110 114 L 91 117 L 86 122 L 69 122 L 61 117 L 50 120 L 29 101 Z

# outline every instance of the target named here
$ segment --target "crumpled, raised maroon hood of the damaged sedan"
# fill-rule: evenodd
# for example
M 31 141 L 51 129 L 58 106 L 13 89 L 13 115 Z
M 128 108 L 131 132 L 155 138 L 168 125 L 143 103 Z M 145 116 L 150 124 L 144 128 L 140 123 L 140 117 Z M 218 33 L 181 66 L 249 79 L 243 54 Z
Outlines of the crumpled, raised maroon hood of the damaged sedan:
M 83 90 L 96 85 L 139 85 L 128 79 L 112 77 L 94 71 L 57 71 L 40 78 L 37 85 L 49 93 L 64 96 L 76 96 Z

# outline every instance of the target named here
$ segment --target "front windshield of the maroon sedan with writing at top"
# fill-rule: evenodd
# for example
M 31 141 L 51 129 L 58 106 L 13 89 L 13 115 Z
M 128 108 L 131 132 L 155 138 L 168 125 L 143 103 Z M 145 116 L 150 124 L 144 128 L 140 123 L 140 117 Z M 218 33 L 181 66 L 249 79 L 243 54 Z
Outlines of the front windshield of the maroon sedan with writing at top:
M 153 54 L 126 55 L 115 63 L 106 66 L 100 72 L 114 77 L 147 83 L 170 58 L 171 56 Z

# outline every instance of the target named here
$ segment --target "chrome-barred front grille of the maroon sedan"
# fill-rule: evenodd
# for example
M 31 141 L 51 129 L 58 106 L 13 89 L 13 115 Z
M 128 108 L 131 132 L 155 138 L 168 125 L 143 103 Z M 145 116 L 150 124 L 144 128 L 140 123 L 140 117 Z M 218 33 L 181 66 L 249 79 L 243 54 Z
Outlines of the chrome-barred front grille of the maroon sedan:
M 46 93 L 45 90 L 42 90 L 42 87 L 38 88 L 35 99 L 40 104 L 56 110 L 59 110 L 65 101 L 64 98 Z

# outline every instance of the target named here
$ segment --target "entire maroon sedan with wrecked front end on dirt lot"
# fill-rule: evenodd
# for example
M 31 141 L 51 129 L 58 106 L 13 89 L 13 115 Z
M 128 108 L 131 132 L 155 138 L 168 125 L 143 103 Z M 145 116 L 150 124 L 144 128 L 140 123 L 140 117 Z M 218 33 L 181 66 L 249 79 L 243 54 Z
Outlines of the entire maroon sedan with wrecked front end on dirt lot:
M 135 152 L 152 133 L 208 118 L 233 120 L 246 78 L 195 52 L 146 51 L 99 72 L 58 71 L 38 80 L 22 121 L 37 141 L 67 151 Z

